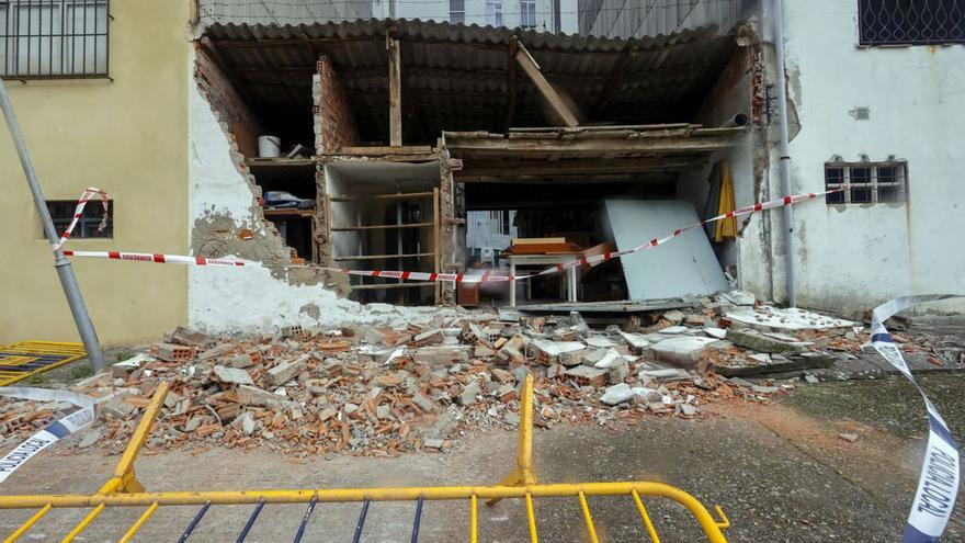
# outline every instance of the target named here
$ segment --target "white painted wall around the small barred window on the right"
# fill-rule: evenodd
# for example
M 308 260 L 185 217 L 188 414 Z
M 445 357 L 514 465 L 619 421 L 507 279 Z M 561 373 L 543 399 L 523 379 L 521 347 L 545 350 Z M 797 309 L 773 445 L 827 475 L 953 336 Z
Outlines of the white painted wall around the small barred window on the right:
M 850 312 L 908 294 L 965 293 L 965 47 L 861 49 L 858 2 L 784 5 L 788 91 L 801 123 L 791 143 L 792 192 L 824 190 L 832 155 L 894 155 L 908 161 L 909 177 L 907 203 L 795 206 L 798 303 Z M 870 108 L 871 120 L 852 118 L 855 106 Z M 770 163 L 777 195 L 774 154 Z M 773 236 L 781 245 L 780 231 Z M 783 293 L 777 251 L 773 271 Z M 741 254 L 745 269 L 767 265 L 762 253 Z

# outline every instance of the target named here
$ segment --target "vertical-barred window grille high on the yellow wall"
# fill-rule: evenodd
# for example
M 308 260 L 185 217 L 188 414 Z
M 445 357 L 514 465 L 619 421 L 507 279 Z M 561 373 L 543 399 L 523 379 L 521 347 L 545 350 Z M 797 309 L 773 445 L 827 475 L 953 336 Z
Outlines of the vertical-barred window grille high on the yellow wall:
M 105 78 L 109 0 L 0 0 L 0 76 Z

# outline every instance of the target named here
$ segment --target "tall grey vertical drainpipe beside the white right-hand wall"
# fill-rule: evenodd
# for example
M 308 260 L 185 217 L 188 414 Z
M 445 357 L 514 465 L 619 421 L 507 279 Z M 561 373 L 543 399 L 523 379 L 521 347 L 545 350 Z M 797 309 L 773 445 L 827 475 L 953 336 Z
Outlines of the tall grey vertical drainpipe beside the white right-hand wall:
M 791 150 L 787 145 L 787 89 L 784 73 L 784 2 L 774 0 L 774 52 L 777 63 L 777 124 L 781 145 L 777 148 L 781 171 L 781 195 L 791 195 Z M 794 280 L 794 212 L 792 206 L 781 207 L 784 225 L 784 270 L 787 283 L 787 305 L 797 307 L 797 285 Z

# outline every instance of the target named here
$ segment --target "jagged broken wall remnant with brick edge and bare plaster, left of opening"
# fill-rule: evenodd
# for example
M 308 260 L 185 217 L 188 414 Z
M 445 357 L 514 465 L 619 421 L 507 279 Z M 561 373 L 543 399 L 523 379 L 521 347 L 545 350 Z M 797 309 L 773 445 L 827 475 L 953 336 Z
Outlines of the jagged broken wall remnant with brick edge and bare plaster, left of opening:
M 191 267 L 189 325 L 209 332 L 333 328 L 342 323 L 431 318 L 432 308 L 364 307 L 329 289 L 328 273 L 292 267 L 290 251 L 264 219 L 260 188 L 243 165 L 230 123 L 258 126 L 231 84 L 202 50 L 188 89 L 189 245 L 192 254 L 236 257 L 253 265 Z

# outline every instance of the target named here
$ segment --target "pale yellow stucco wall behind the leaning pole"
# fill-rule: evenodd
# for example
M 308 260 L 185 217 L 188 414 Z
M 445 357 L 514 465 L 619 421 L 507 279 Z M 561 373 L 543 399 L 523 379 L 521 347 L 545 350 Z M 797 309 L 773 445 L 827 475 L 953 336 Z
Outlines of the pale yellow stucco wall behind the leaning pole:
M 90 185 L 115 202 L 113 239 L 72 239 L 78 250 L 188 250 L 186 88 L 189 2 L 111 2 L 112 80 L 7 81 L 44 193 L 76 200 Z M 5 263 L 0 343 L 77 341 L 78 335 L 5 126 L 0 131 Z M 102 342 L 156 338 L 188 316 L 188 270 L 73 262 Z

